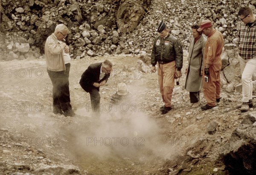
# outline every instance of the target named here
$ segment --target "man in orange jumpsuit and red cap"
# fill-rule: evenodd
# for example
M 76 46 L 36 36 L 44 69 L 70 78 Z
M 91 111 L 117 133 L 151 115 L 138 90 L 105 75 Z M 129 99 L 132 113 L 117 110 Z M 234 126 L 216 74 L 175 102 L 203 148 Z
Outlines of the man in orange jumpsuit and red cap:
M 198 32 L 203 32 L 207 36 L 204 47 L 204 76 L 203 91 L 207 104 L 202 106 L 202 110 L 212 109 L 221 99 L 221 52 L 224 46 L 221 32 L 212 27 L 210 20 L 204 20 Z

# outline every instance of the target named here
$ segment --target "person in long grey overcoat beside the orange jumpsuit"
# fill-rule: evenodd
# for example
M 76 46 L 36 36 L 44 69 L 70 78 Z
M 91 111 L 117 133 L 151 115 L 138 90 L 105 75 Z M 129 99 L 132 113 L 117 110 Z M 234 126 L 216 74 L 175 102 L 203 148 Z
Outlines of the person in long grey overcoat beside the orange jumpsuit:
M 201 104 L 199 91 L 202 88 L 203 55 L 207 38 L 202 36 L 202 32 L 197 31 L 199 27 L 198 24 L 191 26 L 193 37 L 190 40 L 189 63 L 186 68 L 185 89 L 189 91 L 190 103 L 193 103 L 191 108 L 196 108 Z

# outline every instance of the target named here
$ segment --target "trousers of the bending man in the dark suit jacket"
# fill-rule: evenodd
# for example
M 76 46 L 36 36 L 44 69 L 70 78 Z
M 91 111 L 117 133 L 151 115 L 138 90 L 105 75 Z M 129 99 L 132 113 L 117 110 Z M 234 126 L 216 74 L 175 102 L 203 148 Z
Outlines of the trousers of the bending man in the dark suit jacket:
M 99 95 L 99 90 L 96 88 L 93 88 L 90 90 L 90 100 L 91 100 L 91 105 L 92 105 L 92 110 L 95 112 L 96 116 L 99 116 L 100 112 L 100 95 Z

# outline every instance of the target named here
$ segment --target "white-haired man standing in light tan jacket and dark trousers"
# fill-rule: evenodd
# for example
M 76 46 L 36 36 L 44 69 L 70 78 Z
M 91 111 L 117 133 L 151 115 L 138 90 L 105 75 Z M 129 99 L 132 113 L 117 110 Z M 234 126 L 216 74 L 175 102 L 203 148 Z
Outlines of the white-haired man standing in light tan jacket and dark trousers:
M 69 72 L 70 55 L 69 47 L 64 43 L 68 29 L 64 24 L 59 24 L 46 40 L 44 46 L 47 72 L 52 81 L 53 113 L 74 116 L 70 104 Z

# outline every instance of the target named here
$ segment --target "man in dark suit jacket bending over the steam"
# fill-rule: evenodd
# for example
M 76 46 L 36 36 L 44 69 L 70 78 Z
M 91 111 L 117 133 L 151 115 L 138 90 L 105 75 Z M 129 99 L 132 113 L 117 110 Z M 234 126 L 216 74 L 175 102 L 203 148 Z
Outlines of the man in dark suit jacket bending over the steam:
M 90 100 L 93 112 L 99 116 L 100 95 L 99 87 L 104 86 L 112 71 L 112 63 L 105 60 L 103 63 L 91 64 L 82 74 L 80 79 L 81 87 L 90 93 Z

